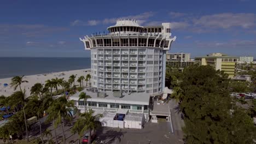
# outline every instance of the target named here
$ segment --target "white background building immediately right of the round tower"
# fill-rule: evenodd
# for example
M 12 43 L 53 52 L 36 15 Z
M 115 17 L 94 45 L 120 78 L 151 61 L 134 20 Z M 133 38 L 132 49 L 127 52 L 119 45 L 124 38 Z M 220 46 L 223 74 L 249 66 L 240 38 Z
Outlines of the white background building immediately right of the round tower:
M 190 53 L 166 53 L 166 65 L 175 68 L 184 68 L 194 64 L 190 59 Z

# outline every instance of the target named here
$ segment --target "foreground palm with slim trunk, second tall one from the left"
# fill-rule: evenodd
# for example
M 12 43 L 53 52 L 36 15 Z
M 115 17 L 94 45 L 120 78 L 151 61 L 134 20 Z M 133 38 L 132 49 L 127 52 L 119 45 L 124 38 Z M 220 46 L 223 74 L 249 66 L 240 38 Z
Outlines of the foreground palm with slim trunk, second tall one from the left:
M 40 136 L 41 136 L 42 141 L 44 141 L 43 135 L 42 135 L 41 122 L 40 122 L 40 115 L 42 116 L 42 113 L 43 113 L 43 111 L 44 111 L 42 99 L 41 99 L 41 100 L 38 100 L 38 97 L 32 97 L 32 98 L 28 101 L 28 103 L 27 103 L 27 105 L 26 105 L 26 110 L 27 110 L 28 112 L 33 113 L 34 116 L 37 116 L 38 121 L 39 121 Z

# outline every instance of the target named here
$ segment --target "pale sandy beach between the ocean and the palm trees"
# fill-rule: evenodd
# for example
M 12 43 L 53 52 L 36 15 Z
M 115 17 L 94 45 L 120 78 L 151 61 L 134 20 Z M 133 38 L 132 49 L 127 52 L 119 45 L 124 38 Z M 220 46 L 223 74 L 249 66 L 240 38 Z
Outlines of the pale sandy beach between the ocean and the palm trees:
M 77 83 L 77 79 L 79 76 L 86 76 L 87 74 L 90 73 L 90 69 L 80 69 L 80 70 L 70 70 L 70 71 L 60 71 L 57 73 L 50 73 L 50 74 L 38 74 L 38 75 L 25 75 L 24 80 L 27 80 L 28 82 L 22 83 L 21 88 L 26 89 L 26 96 L 30 96 L 30 88 L 35 84 L 35 83 L 42 83 L 44 84 L 46 80 L 51 80 L 54 79 L 55 77 L 58 77 L 61 79 L 62 77 L 64 80 L 68 80 L 68 77 L 71 75 L 77 74 L 77 77 L 75 79 L 75 82 Z M 91 74 L 91 73 L 90 73 Z M 5 78 L 5 79 L 0 79 L 0 95 L 4 95 L 5 97 L 8 97 L 9 95 L 13 94 L 14 88 L 10 87 L 11 83 L 11 78 Z M 8 86 L 4 86 L 4 83 L 7 83 Z M 79 83 L 78 83 L 79 85 Z M 84 82 L 85 85 L 85 82 Z M 60 87 L 61 88 L 61 87 Z M 19 88 L 16 89 L 19 91 Z

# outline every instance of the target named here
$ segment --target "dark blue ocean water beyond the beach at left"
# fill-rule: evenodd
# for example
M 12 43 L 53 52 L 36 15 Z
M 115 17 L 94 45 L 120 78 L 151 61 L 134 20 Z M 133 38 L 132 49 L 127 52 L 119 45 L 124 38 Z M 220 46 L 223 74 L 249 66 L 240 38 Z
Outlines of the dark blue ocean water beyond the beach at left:
M 36 75 L 88 69 L 91 58 L 0 57 L 0 79 L 17 75 Z

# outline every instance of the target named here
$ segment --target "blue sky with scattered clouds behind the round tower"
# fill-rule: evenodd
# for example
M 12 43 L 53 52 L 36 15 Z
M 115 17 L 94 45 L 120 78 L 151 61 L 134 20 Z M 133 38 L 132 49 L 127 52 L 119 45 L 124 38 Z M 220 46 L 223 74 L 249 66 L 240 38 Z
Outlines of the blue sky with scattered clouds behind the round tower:
M 0 57 L 89 57 L 79 37 L 115 20 L 171 22 L 171 52 L 256 57 L 256 1 L 1 1 Z

